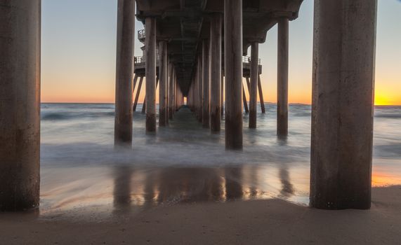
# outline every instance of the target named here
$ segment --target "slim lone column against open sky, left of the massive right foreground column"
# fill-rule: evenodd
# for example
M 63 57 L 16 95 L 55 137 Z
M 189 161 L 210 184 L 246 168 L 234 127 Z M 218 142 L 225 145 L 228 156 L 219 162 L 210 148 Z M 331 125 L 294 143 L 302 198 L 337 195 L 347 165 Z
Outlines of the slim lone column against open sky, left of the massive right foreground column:
M 277 49 L 277 134 L 288 134 L 288 29 L 287 18 L 278 22 Z

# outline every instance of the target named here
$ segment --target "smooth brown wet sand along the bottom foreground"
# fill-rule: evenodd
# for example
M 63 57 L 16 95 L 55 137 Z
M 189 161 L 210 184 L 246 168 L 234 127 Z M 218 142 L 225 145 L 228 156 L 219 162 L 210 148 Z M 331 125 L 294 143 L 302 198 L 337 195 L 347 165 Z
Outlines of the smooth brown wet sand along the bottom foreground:
M 192 202 L 92 221 L 0 214 L 0 231 L 0 244 L 399 244 L 401 186 L 374 188 L 370 210 L 276 199 Z

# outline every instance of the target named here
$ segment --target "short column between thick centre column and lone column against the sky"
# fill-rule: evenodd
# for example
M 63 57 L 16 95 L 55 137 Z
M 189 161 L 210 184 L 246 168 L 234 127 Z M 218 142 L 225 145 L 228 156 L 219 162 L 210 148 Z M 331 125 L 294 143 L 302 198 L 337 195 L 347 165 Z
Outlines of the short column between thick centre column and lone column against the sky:
M 259 44 L 251 45 L 251 83 L 249 84 L 249 127 L 256 128 L 258 113 Z

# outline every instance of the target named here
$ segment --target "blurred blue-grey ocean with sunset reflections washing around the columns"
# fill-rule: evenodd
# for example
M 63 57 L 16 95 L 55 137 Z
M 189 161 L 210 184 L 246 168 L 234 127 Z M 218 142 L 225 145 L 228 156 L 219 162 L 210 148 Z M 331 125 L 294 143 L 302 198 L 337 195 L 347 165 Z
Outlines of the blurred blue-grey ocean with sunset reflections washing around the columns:
M 141 106 L 132 149 L 114 151 L 114 104 L 41 105 L 41 216 L 270 198 L 308 205 L 310 106 L 289 106 L 287 139 L 277 138 L 275 104 L 258 109 L 256 130 L 244 113 L 241 152 L 225 151 L 224 121 L 211 135 L 187 108 L 145 134 Z M 401 106 L 376 106 L 372 185 L 399 184 Z

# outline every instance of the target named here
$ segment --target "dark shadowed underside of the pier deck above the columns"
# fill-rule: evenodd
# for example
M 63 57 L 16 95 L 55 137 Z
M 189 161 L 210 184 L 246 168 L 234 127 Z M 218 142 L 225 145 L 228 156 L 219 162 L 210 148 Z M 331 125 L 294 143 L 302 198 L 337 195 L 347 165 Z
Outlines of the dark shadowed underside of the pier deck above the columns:
M 242 1 L 243 50 L 251 43 L 264 43 L 269 29 L 280 18 L 294 20 L 303 0 Z M 202 40 L 210 38 L 213 15 L 224 13 L 224 1 L 138 0 L 137 18 L 145 23 L 148 16 L 157 20 L 157 40 L 167 41 L 170 62 L 175 66 L 178 86 L 188 95 L 195 73 Z M 222 39 L 224 42 L 224 38 Z M 224 66 L 224 64 L 223 64 Z M 222 66 L 222 67 L 223 67 Z

